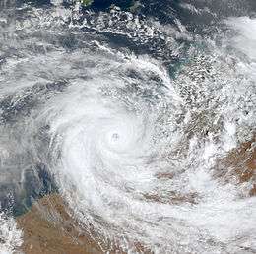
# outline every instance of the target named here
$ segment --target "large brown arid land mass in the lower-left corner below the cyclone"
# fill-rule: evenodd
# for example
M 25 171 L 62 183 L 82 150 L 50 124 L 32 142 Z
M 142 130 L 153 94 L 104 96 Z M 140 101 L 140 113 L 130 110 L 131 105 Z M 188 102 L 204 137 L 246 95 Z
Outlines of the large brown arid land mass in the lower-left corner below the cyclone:
M 80 232 L 60 195 L 45 196 L 17 218 L 24 232 L 25 254 L 99 254 L 95 240 Z

